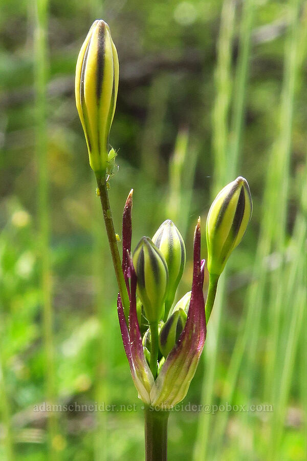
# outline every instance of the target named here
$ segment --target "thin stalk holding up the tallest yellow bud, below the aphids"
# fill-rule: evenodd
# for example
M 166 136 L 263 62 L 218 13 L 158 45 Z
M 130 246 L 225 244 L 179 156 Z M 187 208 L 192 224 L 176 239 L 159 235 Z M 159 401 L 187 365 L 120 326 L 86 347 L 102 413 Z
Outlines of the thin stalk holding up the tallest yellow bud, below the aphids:
M 103 219 L 104 219 L 107 238 L 108 238 L 108 242 L 109 242 L 109 246 L 111 250 L 119 294 L 120 294 L 123 309 L 124 309 L 125 319 L 128 324 L 130 303 L 129 303 L 127 287 L 126 287 L 126 283 L 125 283 L 125 279 L 123 275 L 122 263 L 121 263 L 119 252 L 118 252 L 117 240 L 116 240 L 116 235 L 115 235 L 115 230 L 114 230 L 113 218 L 112 218 L 110 203 L 108 199 L 106 180 L 104 179 L 104 174 L 96 173 L 96 180 L 97 180 L 97 185 L 99 189 L 99 196 L 100 196 L 100 201 L 101 201 L 101 206 L 102 206 L 102 211 L 103 211 Z

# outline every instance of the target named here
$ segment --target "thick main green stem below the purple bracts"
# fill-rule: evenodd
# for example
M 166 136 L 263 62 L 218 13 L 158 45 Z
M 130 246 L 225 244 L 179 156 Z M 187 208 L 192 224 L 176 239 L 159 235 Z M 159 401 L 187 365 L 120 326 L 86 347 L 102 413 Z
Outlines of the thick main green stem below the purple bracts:
M 169 411 L 145 408 L 145 459 L 167 460 L 167 422 Z

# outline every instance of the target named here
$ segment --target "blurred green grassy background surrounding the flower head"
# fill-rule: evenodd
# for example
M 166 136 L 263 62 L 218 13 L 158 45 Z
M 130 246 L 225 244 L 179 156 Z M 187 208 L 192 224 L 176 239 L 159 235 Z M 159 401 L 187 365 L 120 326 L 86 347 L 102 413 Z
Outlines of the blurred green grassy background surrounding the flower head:
M 169 459 L 304 460 L 307 3 L 298 0 L 2 0 L 0 459 L 144 456 L 74 101 L 77 55 L 100 17 L 120 60 L 116 232 L 131 187 L 133 246 L 171 218 L 187 246 L 182 296 L 199 215 L 206 256 L 216 192 L 242 175 L 254 201 L 187 407 L 170 416 Z M 53 414 L 43 402 L 74 410 Z M 95 403 L 114 411 L 90 411 Z

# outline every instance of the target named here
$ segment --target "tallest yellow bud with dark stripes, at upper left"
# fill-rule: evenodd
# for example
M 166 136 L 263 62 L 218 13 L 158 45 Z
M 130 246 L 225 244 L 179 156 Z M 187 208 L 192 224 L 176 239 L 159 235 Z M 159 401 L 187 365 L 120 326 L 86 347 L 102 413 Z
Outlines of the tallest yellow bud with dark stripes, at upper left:
M 108 25 L 97 19 L 81 47 L 76 67 L 76 105 L 95 172 L 105 172 L 114 117 L 119 64 Z

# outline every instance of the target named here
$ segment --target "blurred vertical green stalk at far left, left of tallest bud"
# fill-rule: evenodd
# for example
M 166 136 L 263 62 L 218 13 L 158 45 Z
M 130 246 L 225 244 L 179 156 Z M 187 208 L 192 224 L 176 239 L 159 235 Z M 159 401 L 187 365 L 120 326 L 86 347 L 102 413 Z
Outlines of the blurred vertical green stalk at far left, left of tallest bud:
M 43 316 L 43 343 L 45 348 L 46 395 L 50 404 L 55 399 L 55 366 L 53 342 L 53 308 L 50 264 L 50 221 L 48 206 L 48 140 L 47 140 L 47 18 L 48 0 L 37 0 L 34 31 L 34 86 L 36 92 L 36 152 L 38 163 L 38 219 L 39 254 L 41 263 L 41 290 Z M 58 432 L 57 420 L 52 412 L 48 415 L 49 458 L 57 459 L 53 441 Z

